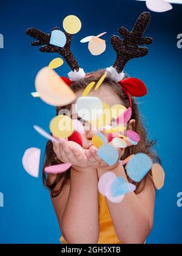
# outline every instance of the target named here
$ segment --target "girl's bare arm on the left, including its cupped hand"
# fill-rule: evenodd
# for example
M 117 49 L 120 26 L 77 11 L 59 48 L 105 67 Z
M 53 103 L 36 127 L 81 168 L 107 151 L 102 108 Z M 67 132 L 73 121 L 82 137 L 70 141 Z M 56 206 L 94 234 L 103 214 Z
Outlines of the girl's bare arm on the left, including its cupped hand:
M 59 146 L 53 145 L 56 155 L 62 162 L 72 163 L 70 180 L 67 180 L 59 196 L 52 199 L 62 236 L 69 244 L 97 243 L 99 237 L 97 171 L 86 165 L 84 154 L 78 148 L 70 146 L 66 141 L 59 142 Z

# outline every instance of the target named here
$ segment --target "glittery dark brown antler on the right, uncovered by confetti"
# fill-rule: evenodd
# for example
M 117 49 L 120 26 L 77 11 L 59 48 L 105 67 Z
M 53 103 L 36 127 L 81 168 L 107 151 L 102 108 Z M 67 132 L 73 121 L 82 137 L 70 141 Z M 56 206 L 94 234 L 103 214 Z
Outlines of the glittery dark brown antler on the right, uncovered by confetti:
M 150 13 L 143 12 L 139 16 L 131 32 L 125 27 L 120 27 L 120 29 L 118 29 L 118 32 L 124 38 L 123 40 L 116 35 L 113 35 L 111 38 L 113 49 L 115 49 L 117 54 L 113 67 L 116 68 L 116 71 L 119 74 L 123 71 L 124 66 L 130 59 L 147 55 L 148 48 L 139 46 L 141 44 L 151 44 L 153 41 L 150 37 L 143 37 L 149 22 Z

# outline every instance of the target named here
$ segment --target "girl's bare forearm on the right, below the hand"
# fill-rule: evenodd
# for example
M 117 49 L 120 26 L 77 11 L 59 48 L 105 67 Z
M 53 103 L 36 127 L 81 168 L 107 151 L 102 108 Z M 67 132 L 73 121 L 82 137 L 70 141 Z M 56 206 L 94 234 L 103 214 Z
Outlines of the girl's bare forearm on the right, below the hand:
M 127 180 L 122 165 L 118 165 L 110 171 Z M 106 171 L 98 169 L 98 176 L 101 177 L 104 172 Z M 120 204 L 114 204 L 107 200 L 116 235 L 120 241 L 125 244 L 144 243 L 153 226 L 154 204 L 155 188 L 148 178 L 146 178 L 146 185 L 141 193 L 126 194 Z

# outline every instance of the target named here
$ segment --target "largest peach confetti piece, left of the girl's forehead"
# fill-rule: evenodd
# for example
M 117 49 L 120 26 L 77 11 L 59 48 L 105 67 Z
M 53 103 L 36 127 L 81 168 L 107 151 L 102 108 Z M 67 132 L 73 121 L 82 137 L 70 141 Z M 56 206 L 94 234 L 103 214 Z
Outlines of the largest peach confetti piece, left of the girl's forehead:
M 75 93 L 48 66 L 42 68 L 37 74 L 35 87 L 42 101 L 54 107 L 68 105 L 76 99 Z

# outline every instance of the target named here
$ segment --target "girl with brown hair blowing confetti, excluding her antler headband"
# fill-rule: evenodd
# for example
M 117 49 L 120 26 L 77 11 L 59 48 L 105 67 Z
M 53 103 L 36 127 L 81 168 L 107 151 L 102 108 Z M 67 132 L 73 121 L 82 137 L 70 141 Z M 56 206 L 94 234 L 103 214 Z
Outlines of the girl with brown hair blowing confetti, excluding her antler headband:
M 79 97 L 90 82 L 97 82 L 103 74 L 103 70 L 89 74 L 89 77 L 73 82 L 71 88 Z M 120 85 L 109 78 L 98 91 L 91 91 L 89 96 L 98 96 L 110 107 L 115 104 L 129 107 L 129 100 Z M 147 140 L 135 99 L 131 99 L 132 118 L 127 123 L 127 130 L 135 130 L 141 141 L 124 151 L 118 149 L 121 160 L 143 152 L 155 162 L 158 157 L 151 151 L 154 143 Z M 57 114 L 59 110 L 57 108 Z M 76 118 L 76 114 L 73 113 L 72 118 Z M 153 226 L 155 188 L 151 174 L 149 172 L 142 182 L 136 184 L 135 193 L 127 194 L 120 204 L 107 201 L 98 193 L 98 180 L 104 172 L 112 171 L 116 176 L 123 176 L 126 180 L 129 178 L 122 165 L 107 166 L 96 155 L 97 149 L 91 141 L 95 133 L 86 130 L 82 135 L 84 152 L 79 151 L 71 141 L 63 139 L 59 140 L 59 146 L 49 141 L 46 147 L 44 168 L 72 163 L 72 168 L 65 174 L 48 176 L 47 179 L 44 174 L 62 233 L 61 243 L 144 243 Z

